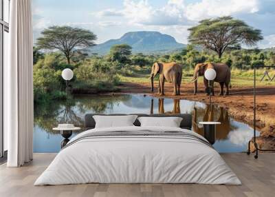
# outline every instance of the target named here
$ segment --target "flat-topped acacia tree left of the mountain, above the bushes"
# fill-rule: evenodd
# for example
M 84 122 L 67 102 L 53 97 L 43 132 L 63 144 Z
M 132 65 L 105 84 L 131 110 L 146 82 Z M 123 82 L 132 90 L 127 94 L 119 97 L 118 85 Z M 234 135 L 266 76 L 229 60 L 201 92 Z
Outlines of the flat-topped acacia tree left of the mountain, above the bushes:
M 67 63 L 71 63 L 71 58 L 75 48 L 87 48 L 95 45 L 96 35 L 81 28 L 69 26 L 52 26 L 41 32 L 42 37 L 37 39 L 36 45 L 40 49 L 61 50 L 67 58 Z

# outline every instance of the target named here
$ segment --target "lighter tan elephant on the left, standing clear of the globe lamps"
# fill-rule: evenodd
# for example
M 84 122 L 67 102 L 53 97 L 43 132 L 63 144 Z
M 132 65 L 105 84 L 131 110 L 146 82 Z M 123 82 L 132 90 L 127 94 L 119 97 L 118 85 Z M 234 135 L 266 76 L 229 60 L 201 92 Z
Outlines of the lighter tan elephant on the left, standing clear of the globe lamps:
M 180 95 L 182 66 L 178 63 L 154 63 L 151 70 L 151 91 L 154 91 L 154 77 L 159 74 L 159 95 L 164 95 L 164 81 L 173 83 L 173 96 Z

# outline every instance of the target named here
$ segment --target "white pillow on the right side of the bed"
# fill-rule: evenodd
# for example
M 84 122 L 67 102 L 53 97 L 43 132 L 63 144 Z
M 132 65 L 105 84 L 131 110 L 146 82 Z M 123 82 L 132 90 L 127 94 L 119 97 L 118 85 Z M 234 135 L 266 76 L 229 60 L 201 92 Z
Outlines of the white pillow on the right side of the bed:
M 182 118 L 179 117 L 139 117 L 141 127 L 179 127 Z

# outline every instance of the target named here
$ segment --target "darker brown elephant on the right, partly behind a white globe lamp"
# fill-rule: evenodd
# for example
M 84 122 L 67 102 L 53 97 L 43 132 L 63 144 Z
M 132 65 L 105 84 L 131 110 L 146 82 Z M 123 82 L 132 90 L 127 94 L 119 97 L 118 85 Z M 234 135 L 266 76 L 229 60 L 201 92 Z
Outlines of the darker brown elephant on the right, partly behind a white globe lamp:
M 220 85 L 219 95 L 223 95 L 223 85 L 225 85 L 226 87 L 225 94 L 228 95 L 231 81 L 231 72 L 230 68 L 225 63 L 198 63 L 195 66 L 194 75 L 192 79 L 192 82 L 194 82 L 194 94 L 197 94 L 197 79 L 199 76 L 203 76 L 203 83 L 207 90 L 208 80 L 204 77 L 204 72 L 206 72 L 206 70 L 208 70 L 209 68 L 212 68 L 216 71 L 217 75 L 214 79 L 214 82 L 218 82 Z M 214 96 L 214 88 L 212 91 L 212 95 Z

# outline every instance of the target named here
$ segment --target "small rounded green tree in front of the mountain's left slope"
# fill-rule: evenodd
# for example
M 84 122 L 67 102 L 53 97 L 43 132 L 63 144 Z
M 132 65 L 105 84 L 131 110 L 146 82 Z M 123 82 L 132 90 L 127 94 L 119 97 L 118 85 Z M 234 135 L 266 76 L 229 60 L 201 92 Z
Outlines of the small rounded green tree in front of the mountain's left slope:
M 113 45 L 110 49 L 110 56 L 112 61 L 126 63 L 129 61 L 129 55 L 132 54 L 132 48 L 127 44 Z

